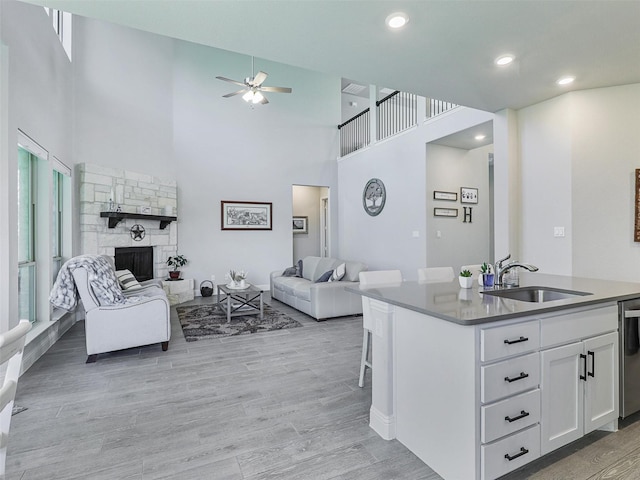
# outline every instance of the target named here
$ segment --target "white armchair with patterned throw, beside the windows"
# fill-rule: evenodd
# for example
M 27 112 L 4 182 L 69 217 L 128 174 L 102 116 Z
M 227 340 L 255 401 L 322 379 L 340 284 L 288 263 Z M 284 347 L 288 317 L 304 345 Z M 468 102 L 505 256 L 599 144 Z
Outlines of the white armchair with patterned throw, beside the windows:
M 87 363 L 114 350 L 153 343 L 161 343 L 163 351 L 169 348 L 169 301 L 162 288 L 149 285 L 127 292 L 127 303 L 100 305 L 85 268 L 73 270 L 73 279 L 85 309 Z

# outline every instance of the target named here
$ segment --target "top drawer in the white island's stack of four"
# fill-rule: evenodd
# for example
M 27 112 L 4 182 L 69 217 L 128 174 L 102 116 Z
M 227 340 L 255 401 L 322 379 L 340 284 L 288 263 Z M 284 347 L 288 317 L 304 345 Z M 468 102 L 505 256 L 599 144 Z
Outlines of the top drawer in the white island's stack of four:
M 480 360 L 488 362 L 540 347 L 540 322 L 533 320 L 480 331 Z

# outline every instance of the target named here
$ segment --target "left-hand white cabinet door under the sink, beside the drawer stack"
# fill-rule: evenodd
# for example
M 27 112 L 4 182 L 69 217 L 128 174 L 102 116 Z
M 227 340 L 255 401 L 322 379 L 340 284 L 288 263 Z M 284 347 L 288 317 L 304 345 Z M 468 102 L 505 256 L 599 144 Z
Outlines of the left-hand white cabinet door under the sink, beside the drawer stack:
M 540 353 L 542 378 L 542 455 L 582 437 L 584 431 L 584 361 L 582 342 Z

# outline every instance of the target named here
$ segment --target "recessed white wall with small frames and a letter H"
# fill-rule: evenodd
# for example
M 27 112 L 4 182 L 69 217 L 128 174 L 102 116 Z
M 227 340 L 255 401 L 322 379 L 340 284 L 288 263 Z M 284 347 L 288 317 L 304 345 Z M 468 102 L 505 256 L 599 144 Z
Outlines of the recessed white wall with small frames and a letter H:
M 493 146 L 463 150 L 427 145 L 427 267 L 479 264 L 490 260 L 489 153 Z M 477 204 L 463 204 L 460 188 L 478 189 Z M 434 200 L 434 190 L 456 192 L 458 200 Z M 455 218 L 436 217 L 434 208 L 456 208 Z M 471 207 L 471 222 L 464 222 L 464 207 Z M 440 235 L 438 235 L 438 232 Z

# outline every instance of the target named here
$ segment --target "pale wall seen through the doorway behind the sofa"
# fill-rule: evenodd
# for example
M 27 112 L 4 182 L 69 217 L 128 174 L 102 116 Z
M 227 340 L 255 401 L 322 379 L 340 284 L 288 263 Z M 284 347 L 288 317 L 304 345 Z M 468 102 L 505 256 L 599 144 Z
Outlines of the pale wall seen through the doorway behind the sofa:
M 309 233 L 293 234 L 291 265 L 307 255 L 320 256 L 320 195 L 321 187 L 293 186 L 293 215 L 307 217 Z

